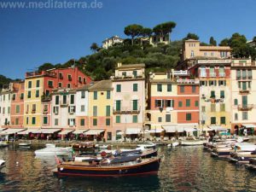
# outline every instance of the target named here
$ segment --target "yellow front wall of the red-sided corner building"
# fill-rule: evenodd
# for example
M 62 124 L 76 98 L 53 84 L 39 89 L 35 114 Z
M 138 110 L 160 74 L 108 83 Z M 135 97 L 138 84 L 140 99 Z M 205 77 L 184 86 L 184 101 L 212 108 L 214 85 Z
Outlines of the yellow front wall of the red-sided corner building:
M 24 127 L 39 128 L 42 123 L 42 102 L 44 79 L 43 77 L 26 77 L 24 96 Z

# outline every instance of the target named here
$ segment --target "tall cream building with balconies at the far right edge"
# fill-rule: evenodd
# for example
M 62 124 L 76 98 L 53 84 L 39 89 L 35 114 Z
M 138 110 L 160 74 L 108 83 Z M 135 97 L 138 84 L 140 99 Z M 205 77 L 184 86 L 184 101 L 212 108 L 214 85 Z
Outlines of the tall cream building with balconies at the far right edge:
M 253 134 L 256 127 L 256 63 L 250 59 L 233 59 L 231 62 L 232 131 L 241 128 Z

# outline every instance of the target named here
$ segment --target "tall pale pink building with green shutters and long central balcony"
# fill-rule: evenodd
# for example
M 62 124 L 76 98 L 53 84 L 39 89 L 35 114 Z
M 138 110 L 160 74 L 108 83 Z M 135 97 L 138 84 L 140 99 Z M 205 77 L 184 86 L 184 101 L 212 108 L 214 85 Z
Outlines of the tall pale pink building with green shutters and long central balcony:
M 145 64 L 118 63 L 113 81 L 113 137 L 137 137 L 143 131 Z

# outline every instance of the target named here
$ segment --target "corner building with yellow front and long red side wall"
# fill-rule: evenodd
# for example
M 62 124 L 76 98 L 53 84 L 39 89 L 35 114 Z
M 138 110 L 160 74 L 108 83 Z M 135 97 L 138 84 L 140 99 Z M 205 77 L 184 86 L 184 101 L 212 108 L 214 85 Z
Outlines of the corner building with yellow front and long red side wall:
M 89 84 L 78 67 L 26 73 L 24 127 L 50 126 L 50 93 L 56 88 L 74 89 Z M 46 111 L 48 108 L 48 111 Z

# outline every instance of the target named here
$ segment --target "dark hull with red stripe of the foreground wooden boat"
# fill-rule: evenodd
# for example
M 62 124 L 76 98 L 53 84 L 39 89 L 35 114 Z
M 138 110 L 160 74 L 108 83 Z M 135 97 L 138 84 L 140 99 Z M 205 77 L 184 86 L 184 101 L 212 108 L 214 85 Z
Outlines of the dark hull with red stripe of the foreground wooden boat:
M 160 158 L 146 160 L 128 166 L 74 166 L 59 165 L 58 176 L 72 177 L 123 177 L 143 174 L 156 174 L 160 167 Z

